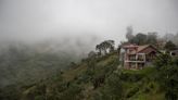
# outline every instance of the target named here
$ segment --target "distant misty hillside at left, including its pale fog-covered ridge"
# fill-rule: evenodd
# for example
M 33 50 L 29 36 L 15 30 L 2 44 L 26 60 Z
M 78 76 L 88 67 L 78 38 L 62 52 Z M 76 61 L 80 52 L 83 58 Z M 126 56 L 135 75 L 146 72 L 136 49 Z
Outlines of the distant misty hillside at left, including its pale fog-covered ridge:
M 85 57 L 78 49 L 50 42 L 7 45 L 0 49 L 0 87 L 35 83 L 66 70 Z

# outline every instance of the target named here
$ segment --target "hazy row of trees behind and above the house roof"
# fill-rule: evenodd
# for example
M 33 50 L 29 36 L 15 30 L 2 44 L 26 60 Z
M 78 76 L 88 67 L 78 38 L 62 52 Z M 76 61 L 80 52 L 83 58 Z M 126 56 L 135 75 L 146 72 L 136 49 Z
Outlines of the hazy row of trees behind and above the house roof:
M 167 51 L 176 50 L 178 47 L 178 34 L 165 34 L 164 36 L 160 36 L 156 32 L 149 32 L 148 34 L 138 33 L 134 35 L 132 26 L 128 26 L 126 30 L 127 41 L 122 41 L 122 43 L 153 45 L 158 49 L 165 49 Z

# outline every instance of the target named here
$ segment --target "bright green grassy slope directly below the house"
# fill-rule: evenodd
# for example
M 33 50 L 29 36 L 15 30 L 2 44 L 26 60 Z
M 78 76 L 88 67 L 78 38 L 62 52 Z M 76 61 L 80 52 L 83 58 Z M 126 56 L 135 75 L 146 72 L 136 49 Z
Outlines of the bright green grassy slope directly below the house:
M 147 67 L 140 71 L 123 70 L 123 73 L 131 75 L 139 74 L 143 76 L 143 78 L 137 83 L 126 82 L 126 92 L 131 88 L 139 88 L 139 90 L 128 100 L 164 100 L 164 92 L 160 91 L 158 84 L 152 80 L 153 75 L 156 73 L 154 67 Z

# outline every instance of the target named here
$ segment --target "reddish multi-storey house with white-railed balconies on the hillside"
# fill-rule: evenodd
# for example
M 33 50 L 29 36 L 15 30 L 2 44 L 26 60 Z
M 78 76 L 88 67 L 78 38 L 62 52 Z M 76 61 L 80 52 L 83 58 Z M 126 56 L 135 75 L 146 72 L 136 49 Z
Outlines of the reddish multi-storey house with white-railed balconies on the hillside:
M 151 46 L 125 45 L 120 48 L 120 61 L 125 68 L 141 70 L 151 65 L 153 59 L 160 51 Z

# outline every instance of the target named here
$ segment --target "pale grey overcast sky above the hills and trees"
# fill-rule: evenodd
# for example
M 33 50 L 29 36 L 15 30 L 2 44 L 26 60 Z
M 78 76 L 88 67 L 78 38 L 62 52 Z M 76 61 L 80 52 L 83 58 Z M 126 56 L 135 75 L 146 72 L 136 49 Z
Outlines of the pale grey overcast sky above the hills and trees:
M 178 32 L 178 0 L 0 0 L 1 40 L 125 39 L 138 32 Z

